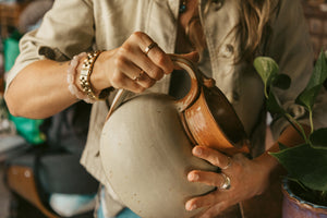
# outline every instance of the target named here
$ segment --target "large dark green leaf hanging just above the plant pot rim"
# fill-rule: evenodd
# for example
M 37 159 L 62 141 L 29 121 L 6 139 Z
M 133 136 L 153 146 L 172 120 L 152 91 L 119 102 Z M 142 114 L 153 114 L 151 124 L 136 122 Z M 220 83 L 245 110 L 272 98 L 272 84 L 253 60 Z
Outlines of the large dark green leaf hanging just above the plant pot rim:
M 327 191 L 327 150 L 308 144 L 272 153 L 288 170 L 289 177 L 316 191 Z

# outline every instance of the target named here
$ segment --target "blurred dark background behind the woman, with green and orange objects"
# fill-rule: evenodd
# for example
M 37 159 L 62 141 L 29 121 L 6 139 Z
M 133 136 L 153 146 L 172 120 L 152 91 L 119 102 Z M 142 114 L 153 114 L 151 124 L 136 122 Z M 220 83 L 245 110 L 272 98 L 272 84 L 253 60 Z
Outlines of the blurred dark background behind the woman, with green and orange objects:
M 82 104 L 76 106 L 82 113 L 70 108 L 48 120 L 29 120 L 12 117 L 3 101 L 5 75 L 20 52 L 19 40 L 26 32 L 37 28 L 53 1 L 0 0 L 0 218 L 81 218 L 92 217 L 93 213 L 98 184 L 78 166 L 89 107 Z M 302 3 L 317 58 L 322 49 L 327 49 L 327 1 L 303 0 Z M 268 134 L 267 145 L 270 142 Z M 72 171 L 73 179 L 68 175 Z M 43 179 L 34 181 L 36 172 Z M 57 178 L 60 178 L 58 183 L 53 183 Z M 84 182 L 78 186 L 76 180 Z M 72 205 L 62 208 L 58 202 Z

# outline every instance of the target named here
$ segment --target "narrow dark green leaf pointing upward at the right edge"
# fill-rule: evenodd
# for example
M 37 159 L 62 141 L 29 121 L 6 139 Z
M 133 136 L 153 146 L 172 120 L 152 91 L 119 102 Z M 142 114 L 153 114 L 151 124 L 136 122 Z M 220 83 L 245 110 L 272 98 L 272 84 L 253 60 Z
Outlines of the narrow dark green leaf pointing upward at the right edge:
M 327 59 L 324 52 L 322 51 L 306 87 L 298 96 L 295 102 L 304 106 L 307 110 L 312 111 L 312 107 L 315 102 L 316 96 L 319 93 L 322 86 L 324 85 L 326 78 Z

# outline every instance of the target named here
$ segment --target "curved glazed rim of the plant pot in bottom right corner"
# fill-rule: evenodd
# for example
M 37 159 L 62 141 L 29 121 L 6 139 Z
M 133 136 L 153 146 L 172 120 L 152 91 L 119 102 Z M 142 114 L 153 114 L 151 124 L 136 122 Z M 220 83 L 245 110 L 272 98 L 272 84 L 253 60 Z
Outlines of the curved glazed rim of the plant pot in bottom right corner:
M 283 179 L 282 181 L 282 193 L 286 197 L 288 197 L 291 202 L 295 203 L 298 206 L 311 210 L 315 210 L 316 213 L 326 214 L 327 215 L 327 206 L 317 205 L 311 202 L 306 202 L 295 195 L 291 189 L 289 187 L 289 180 Z

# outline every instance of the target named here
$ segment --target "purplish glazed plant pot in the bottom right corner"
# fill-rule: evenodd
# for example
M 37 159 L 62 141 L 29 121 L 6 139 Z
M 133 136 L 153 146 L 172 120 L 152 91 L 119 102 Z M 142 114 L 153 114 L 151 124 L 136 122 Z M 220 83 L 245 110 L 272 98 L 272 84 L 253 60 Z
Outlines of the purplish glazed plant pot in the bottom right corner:
M 282 183 L 282 218 L 327 218 L 327 207 L 316 205 L 296 196 L 290 189 L 290 181 Z

